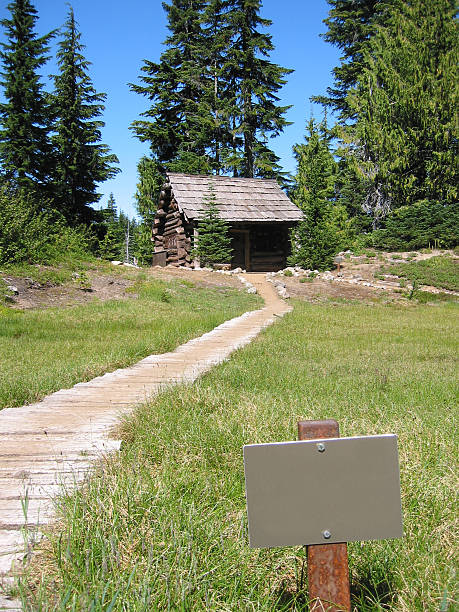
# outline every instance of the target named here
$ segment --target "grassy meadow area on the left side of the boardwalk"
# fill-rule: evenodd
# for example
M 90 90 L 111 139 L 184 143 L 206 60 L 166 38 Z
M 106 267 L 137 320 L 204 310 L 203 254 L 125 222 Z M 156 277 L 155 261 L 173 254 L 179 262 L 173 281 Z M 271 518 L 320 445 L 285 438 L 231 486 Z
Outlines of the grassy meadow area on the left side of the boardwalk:
M 0 409 L 170 351 L 259 303 L 241 291 L 165 283 L 142 272 L 131 291 L 137 299 L 28 311 L 0 306 Z

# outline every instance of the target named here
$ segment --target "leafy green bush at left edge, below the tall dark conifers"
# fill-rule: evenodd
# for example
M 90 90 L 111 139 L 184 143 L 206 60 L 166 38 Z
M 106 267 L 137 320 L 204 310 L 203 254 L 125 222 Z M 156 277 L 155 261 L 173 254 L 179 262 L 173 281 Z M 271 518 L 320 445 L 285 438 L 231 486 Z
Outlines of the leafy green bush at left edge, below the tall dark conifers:
M 68 227 L 59 212 L 5 188 L 0 191 L 0 263 L 87 259 L 92 241 L 87 228 Z

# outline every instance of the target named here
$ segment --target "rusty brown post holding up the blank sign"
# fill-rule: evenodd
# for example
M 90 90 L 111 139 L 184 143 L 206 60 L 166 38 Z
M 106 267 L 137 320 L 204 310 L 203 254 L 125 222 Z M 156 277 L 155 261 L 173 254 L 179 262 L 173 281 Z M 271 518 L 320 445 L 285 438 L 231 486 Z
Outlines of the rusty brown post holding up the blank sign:
M 299 440 L 318 438 L 339 438 L 338 423 L 333 419 L 298 422 Z M 349 612 L 351 596 L 347 543 L 307 546 L 307 554 L 311 610 Z

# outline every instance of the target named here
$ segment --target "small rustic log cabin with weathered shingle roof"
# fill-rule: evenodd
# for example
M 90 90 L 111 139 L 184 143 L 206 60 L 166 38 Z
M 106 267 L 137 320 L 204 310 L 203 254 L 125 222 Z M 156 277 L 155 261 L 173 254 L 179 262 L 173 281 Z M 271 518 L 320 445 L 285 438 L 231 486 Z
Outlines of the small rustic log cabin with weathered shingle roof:
M 269 272 L 285 268 L 290 254 L 290 228 L 302 212 L 271 179 L 232 178 L 169 173 L 153 222 L 154 265 L 197 266 L 193 242 L 209 185 L 231 235 L 232 268 Z

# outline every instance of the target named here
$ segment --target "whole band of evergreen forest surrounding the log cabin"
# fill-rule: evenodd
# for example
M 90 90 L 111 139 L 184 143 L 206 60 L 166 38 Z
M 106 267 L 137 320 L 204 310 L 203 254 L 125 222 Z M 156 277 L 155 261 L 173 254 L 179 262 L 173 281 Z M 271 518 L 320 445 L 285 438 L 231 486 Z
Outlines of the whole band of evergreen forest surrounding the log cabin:
M 292 236 L 291 263 L 306 267 L 328 267 L 344 248 L 455 246 L 455 2 L 329 5 L 324 39 L 341 62 L 331 87 L 314 99 L 326 118 L 305 113 L 306 138 L 294 147 L 291 176 L 271 138 L 288 125 L 280 91 L 294 81 L 295 66 L 271 61 L 270 15 L 261 2 L 164 4 L 169 32 L 161 57 L 144 60 L 131 84 L 146 98 L 131 129 L 149 148 L 138 165 L 141 222 L 131 223 L 132 253 L 141 261 L 150 257 L 150 224 L 167 170 L 277 178 L 305 214 Z M 60 33 L 44 37 L 36 34 L 31 2 L 16 0 L 8 11 L 0 259 L 46 263 L 64 249 L 121 257 L 126 216 L 120 219 L 113 197 L 95 211 L 98 186 L 119 167 L 102 143 L 105 94 L 92 84 L 73 11 Z M 52 38 L 59 41 L 57 74 L 47 91 L 40 71 Z M 38 246 L 37 235 L 46 237 Z

